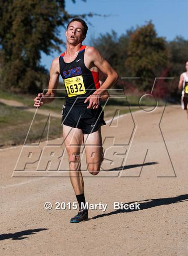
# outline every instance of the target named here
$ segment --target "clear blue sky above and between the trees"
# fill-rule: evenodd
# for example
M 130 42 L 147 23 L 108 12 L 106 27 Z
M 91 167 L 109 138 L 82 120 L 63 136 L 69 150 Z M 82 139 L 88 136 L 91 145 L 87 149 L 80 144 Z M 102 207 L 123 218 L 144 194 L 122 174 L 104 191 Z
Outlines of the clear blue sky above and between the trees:
M 98 13 L 111 15 L 107 18 L 94 16 L 88 21 L 87 37 L 84 45 L 89 45 L 91 36 L 98 37 L 99 33 L 115 30 L 120 36 L 127 29 L 144 25 L 152 20 L 158 36 L 173 40 L 175 36 L 183 36 L 188 40 L 188 0 L 65 0 L 66 10 L 71 14 Z M 65 41 L 64 28 L 61 38 Z M 62 46 L 62 52 L 64 47 Z M 51 61 L 59 56 L 54 52 L 50 56 L 42 54 L 41 63 L 50 70 Z

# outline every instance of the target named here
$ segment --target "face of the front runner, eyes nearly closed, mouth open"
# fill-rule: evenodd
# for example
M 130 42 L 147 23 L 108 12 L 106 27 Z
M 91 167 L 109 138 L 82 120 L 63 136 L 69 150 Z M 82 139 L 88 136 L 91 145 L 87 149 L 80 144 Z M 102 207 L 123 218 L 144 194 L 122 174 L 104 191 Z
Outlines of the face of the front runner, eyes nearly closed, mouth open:
M 81 43 L 85 39 L 85 36 L 83 36 L 83 26 L 81 22 L 71 22 L 67 31 L 65 31 L 65 36 L 67 37 L 67 42 L 72 45 Z

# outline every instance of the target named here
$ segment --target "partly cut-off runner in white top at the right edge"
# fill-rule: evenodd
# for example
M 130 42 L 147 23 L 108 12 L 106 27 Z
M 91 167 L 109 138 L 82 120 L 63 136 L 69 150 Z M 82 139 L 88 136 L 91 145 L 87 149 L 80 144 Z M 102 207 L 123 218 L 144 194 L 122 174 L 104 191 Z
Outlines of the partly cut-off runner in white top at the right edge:
M 185 110 L 187 110 L 187 117 L 188 117 L 188 61 L 185 63 L 185 68 L 187 72 L 184 72 L 181 74 L 179 78 L 179 85 L 178 89 L 182 90 L 182 96 L 181 96 L 181 107 Z

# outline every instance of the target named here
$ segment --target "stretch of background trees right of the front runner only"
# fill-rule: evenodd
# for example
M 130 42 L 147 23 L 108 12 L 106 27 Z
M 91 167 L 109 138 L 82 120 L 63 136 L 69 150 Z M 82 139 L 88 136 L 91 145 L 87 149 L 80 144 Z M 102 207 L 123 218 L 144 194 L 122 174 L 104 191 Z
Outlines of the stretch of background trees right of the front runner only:
M 158 37 L 154 24 L 150 21 L 144 26 L 131 28 L 117 36 L 115 31 L 92 38 L 91 43 L 115 68 L 120 79 L 117 88 L 150 93 L 155 77 L 174 77 L 157 79 L 153 94 L 161 98 L 176 98 L 179 76 L 185 72 L 188 61 L 188 40 L 177 36 L 172 41 Z M 140 77 L 140 79 L 121 79 L 121 77 Z

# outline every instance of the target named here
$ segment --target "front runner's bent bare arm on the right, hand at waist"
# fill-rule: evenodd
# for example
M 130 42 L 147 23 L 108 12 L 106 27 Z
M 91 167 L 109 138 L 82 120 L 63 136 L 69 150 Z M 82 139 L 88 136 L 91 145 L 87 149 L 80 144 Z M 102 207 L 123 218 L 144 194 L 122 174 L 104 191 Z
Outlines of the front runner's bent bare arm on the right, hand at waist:
M 104 81 L 103 85 L 87 99 L 85 99 L 85 103 L 87 101 L 90 101 L 90 104 L 87 108 L 94 109 L 98 108 L 99 101 L 102 95 L 107 92 L 107 90 L 110 89 L 111 86 L 114 85 L 115 82 L 118 80 L 118 74 L 94 47 L 88 47 L 86 49 L 86 54 L 87 59 L 89 59 L 91 63 L 94 63 L 94 65 L 107 76 L 107 79 Z

